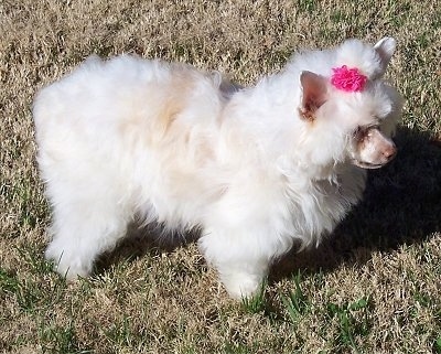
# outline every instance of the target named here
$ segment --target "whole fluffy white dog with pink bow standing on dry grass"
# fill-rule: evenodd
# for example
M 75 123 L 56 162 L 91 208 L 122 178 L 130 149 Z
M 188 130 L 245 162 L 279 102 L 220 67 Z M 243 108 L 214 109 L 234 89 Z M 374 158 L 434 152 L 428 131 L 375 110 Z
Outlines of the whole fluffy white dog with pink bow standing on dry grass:
M 88 58 L 34 103 L 47 259 L 84 277 L 135 218 L 197 227 L 228 292 L 252 294 L 294 240 L 316 245 L 361 200 L 364 169 L 395 155 L 401 99 L 381 81 L 395 46 L 295 54 L 249 88 L 183 64 Z

